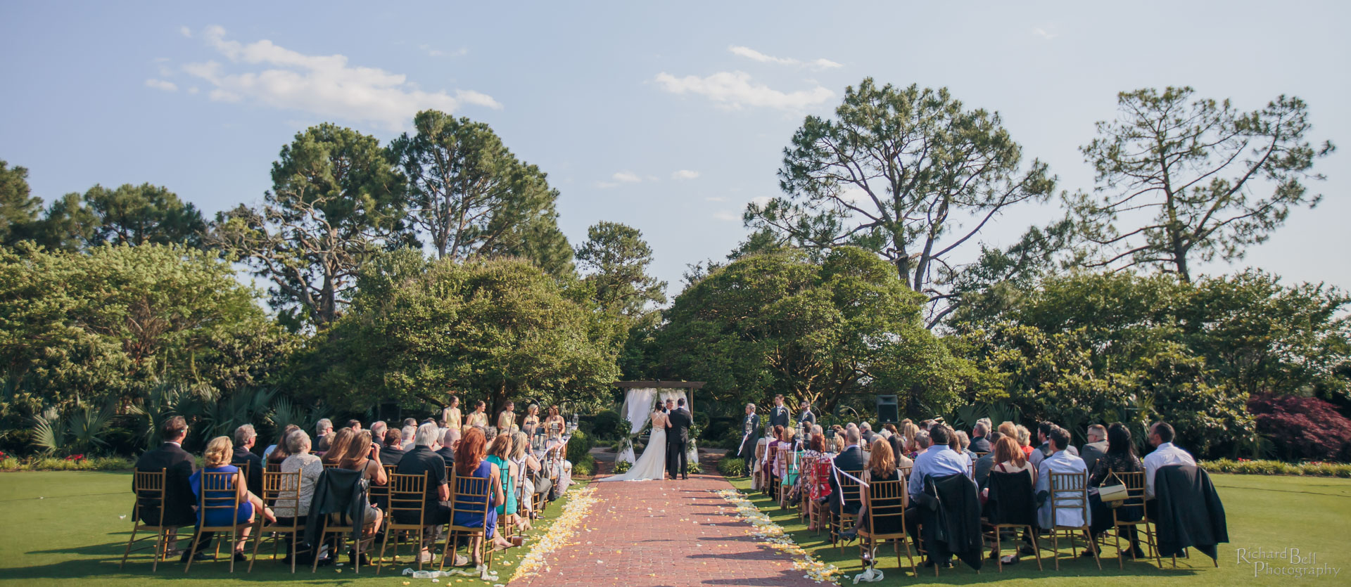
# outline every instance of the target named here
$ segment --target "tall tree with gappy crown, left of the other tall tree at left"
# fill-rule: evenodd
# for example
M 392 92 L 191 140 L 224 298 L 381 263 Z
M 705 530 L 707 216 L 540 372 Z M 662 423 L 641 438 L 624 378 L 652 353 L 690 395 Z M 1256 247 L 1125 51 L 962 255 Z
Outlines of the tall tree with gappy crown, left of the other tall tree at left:
M 272 182 L 262 206 L 218 215 L 211 239 L 272 281 L 289 323 L 326 327 L 361 263 L 407 242 L 403 177 L 374 136 L 326 123 L 281 148 Z

